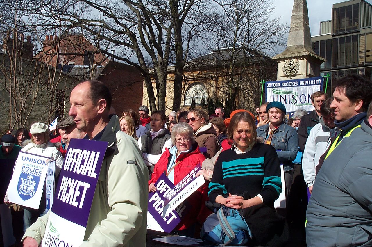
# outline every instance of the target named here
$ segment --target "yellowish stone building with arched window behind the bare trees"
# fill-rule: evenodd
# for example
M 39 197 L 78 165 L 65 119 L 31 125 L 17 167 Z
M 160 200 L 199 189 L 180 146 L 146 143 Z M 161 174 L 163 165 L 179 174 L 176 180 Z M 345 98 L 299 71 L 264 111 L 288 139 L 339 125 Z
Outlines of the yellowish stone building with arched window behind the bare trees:
M 232 59 L 230 59 L 233 56 Z M 231 61 L 233 66 L 231 66 Z M 192 99 L 196 106 L 202 100 L 221 102 L 225 106 L 228 95 L 233 108 L 254 110 L 260 103 L 262 80 L 276 79 L 277 63 L 270 57 L 237 46 L 223 47 L 212 53 L 187 61 L 183 71 L 181 108 L 190 108 Z M 174 66 L 168 67 L 166 113 L 172 111 L 174 92 Z M 153 83 L 156 95 L 156 86 Z M 147 89 L 144 85 L 142 104 L 149 105 Z M 234 109 L 231 109 L 234 110 Z M 213 112 L 214 113 L 214 112 Z

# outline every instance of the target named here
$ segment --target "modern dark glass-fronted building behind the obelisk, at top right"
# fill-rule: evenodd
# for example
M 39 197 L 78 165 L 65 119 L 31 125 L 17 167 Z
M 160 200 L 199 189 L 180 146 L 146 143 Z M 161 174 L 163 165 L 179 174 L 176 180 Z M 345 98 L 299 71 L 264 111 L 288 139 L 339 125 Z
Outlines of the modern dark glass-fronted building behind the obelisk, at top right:
M 311 37 L 314 52 L 327 61 L 321 64 L 321 76 L 332 81 L 344 75 L 372 75 L 372 5 L 365 0 L 333 4 L 332 20 L 320 22 L 320 35 Z M 324 85 L 325 89 L 325 85 Z

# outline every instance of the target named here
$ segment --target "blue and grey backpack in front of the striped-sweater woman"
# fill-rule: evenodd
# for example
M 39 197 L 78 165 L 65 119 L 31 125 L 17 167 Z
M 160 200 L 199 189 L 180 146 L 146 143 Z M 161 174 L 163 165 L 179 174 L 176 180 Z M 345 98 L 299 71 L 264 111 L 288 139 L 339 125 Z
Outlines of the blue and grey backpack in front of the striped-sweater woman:
M 247 222 L 239 211 L 226 206 L 208 216 L 200 236 L 203 241 L 222 246 L 244 246 L 252 239 Z

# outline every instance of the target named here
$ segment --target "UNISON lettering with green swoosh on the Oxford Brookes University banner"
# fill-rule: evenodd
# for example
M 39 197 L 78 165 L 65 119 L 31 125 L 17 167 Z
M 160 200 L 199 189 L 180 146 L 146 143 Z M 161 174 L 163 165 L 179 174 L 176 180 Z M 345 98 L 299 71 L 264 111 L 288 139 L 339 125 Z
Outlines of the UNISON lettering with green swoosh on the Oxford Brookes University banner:
M 293 104 L 295 106 L 311 105 L 310 94 L 298 94 L 298 92 L 288 90 L 271 89 L 272 101 L 279 101 L 283 104 Z

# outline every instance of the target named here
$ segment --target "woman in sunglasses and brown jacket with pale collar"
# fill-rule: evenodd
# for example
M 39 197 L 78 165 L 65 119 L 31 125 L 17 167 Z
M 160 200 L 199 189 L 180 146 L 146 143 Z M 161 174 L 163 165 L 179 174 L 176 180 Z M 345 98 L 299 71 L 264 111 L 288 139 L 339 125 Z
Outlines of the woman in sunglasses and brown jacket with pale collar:
M 192 127 L 199 147 L 207 148 L 205 156 L 210 159 L 217 153 L 218 144 L 216 131 L 211 123 L 206 122 L 208 119 L 209 116 L 205 110 L 194 108 L 187 114 L 186 123 Z

